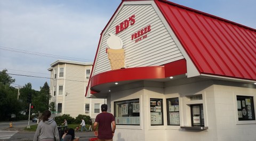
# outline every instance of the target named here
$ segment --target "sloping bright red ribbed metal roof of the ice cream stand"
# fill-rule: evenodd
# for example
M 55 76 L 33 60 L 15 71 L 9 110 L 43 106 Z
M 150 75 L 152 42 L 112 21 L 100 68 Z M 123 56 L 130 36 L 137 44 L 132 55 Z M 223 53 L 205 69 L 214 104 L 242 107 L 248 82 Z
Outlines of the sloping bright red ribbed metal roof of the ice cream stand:
M 256 80 L 256 30 L 155 0 L 199 73 Z

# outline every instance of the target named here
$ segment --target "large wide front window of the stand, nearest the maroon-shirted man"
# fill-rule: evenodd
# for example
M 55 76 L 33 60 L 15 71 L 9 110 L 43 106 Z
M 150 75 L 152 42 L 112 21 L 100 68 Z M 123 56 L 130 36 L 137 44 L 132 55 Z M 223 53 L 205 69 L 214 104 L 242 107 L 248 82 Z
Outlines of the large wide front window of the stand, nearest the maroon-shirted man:
M 140 125 L 139 99 L 116 101 L 114 109 L 117 125 Z

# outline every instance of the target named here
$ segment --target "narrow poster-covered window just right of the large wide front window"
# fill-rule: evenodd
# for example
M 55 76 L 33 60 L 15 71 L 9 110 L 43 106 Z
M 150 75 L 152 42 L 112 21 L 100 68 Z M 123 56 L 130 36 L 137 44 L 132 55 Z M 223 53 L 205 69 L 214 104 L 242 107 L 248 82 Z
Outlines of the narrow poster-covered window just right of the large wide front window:
M 163 99 L 150 99 L 151 125 L 164 125 L 163 122 Z

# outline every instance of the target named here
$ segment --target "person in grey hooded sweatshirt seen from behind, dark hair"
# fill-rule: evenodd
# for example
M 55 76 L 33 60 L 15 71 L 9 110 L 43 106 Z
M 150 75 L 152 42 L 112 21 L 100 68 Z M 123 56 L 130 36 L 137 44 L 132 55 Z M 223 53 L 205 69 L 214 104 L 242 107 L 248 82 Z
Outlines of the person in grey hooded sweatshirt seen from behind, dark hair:
M 42 120 L 39 122 L 33 141 L 60 140 L 59 131 L 56 122 L 50 118 L 51 111 L 45 110 L 42 114 Z

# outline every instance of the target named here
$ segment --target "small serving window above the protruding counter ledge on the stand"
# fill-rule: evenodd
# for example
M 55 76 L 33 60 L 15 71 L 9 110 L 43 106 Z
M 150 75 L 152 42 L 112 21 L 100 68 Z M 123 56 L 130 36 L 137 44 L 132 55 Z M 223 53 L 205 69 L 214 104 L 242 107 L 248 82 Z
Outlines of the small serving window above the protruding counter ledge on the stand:
M 203 104 L 190 105 L 190 109 L 191 109 L 191 124 L 192 124 L 192 126 L 204 127 Z

